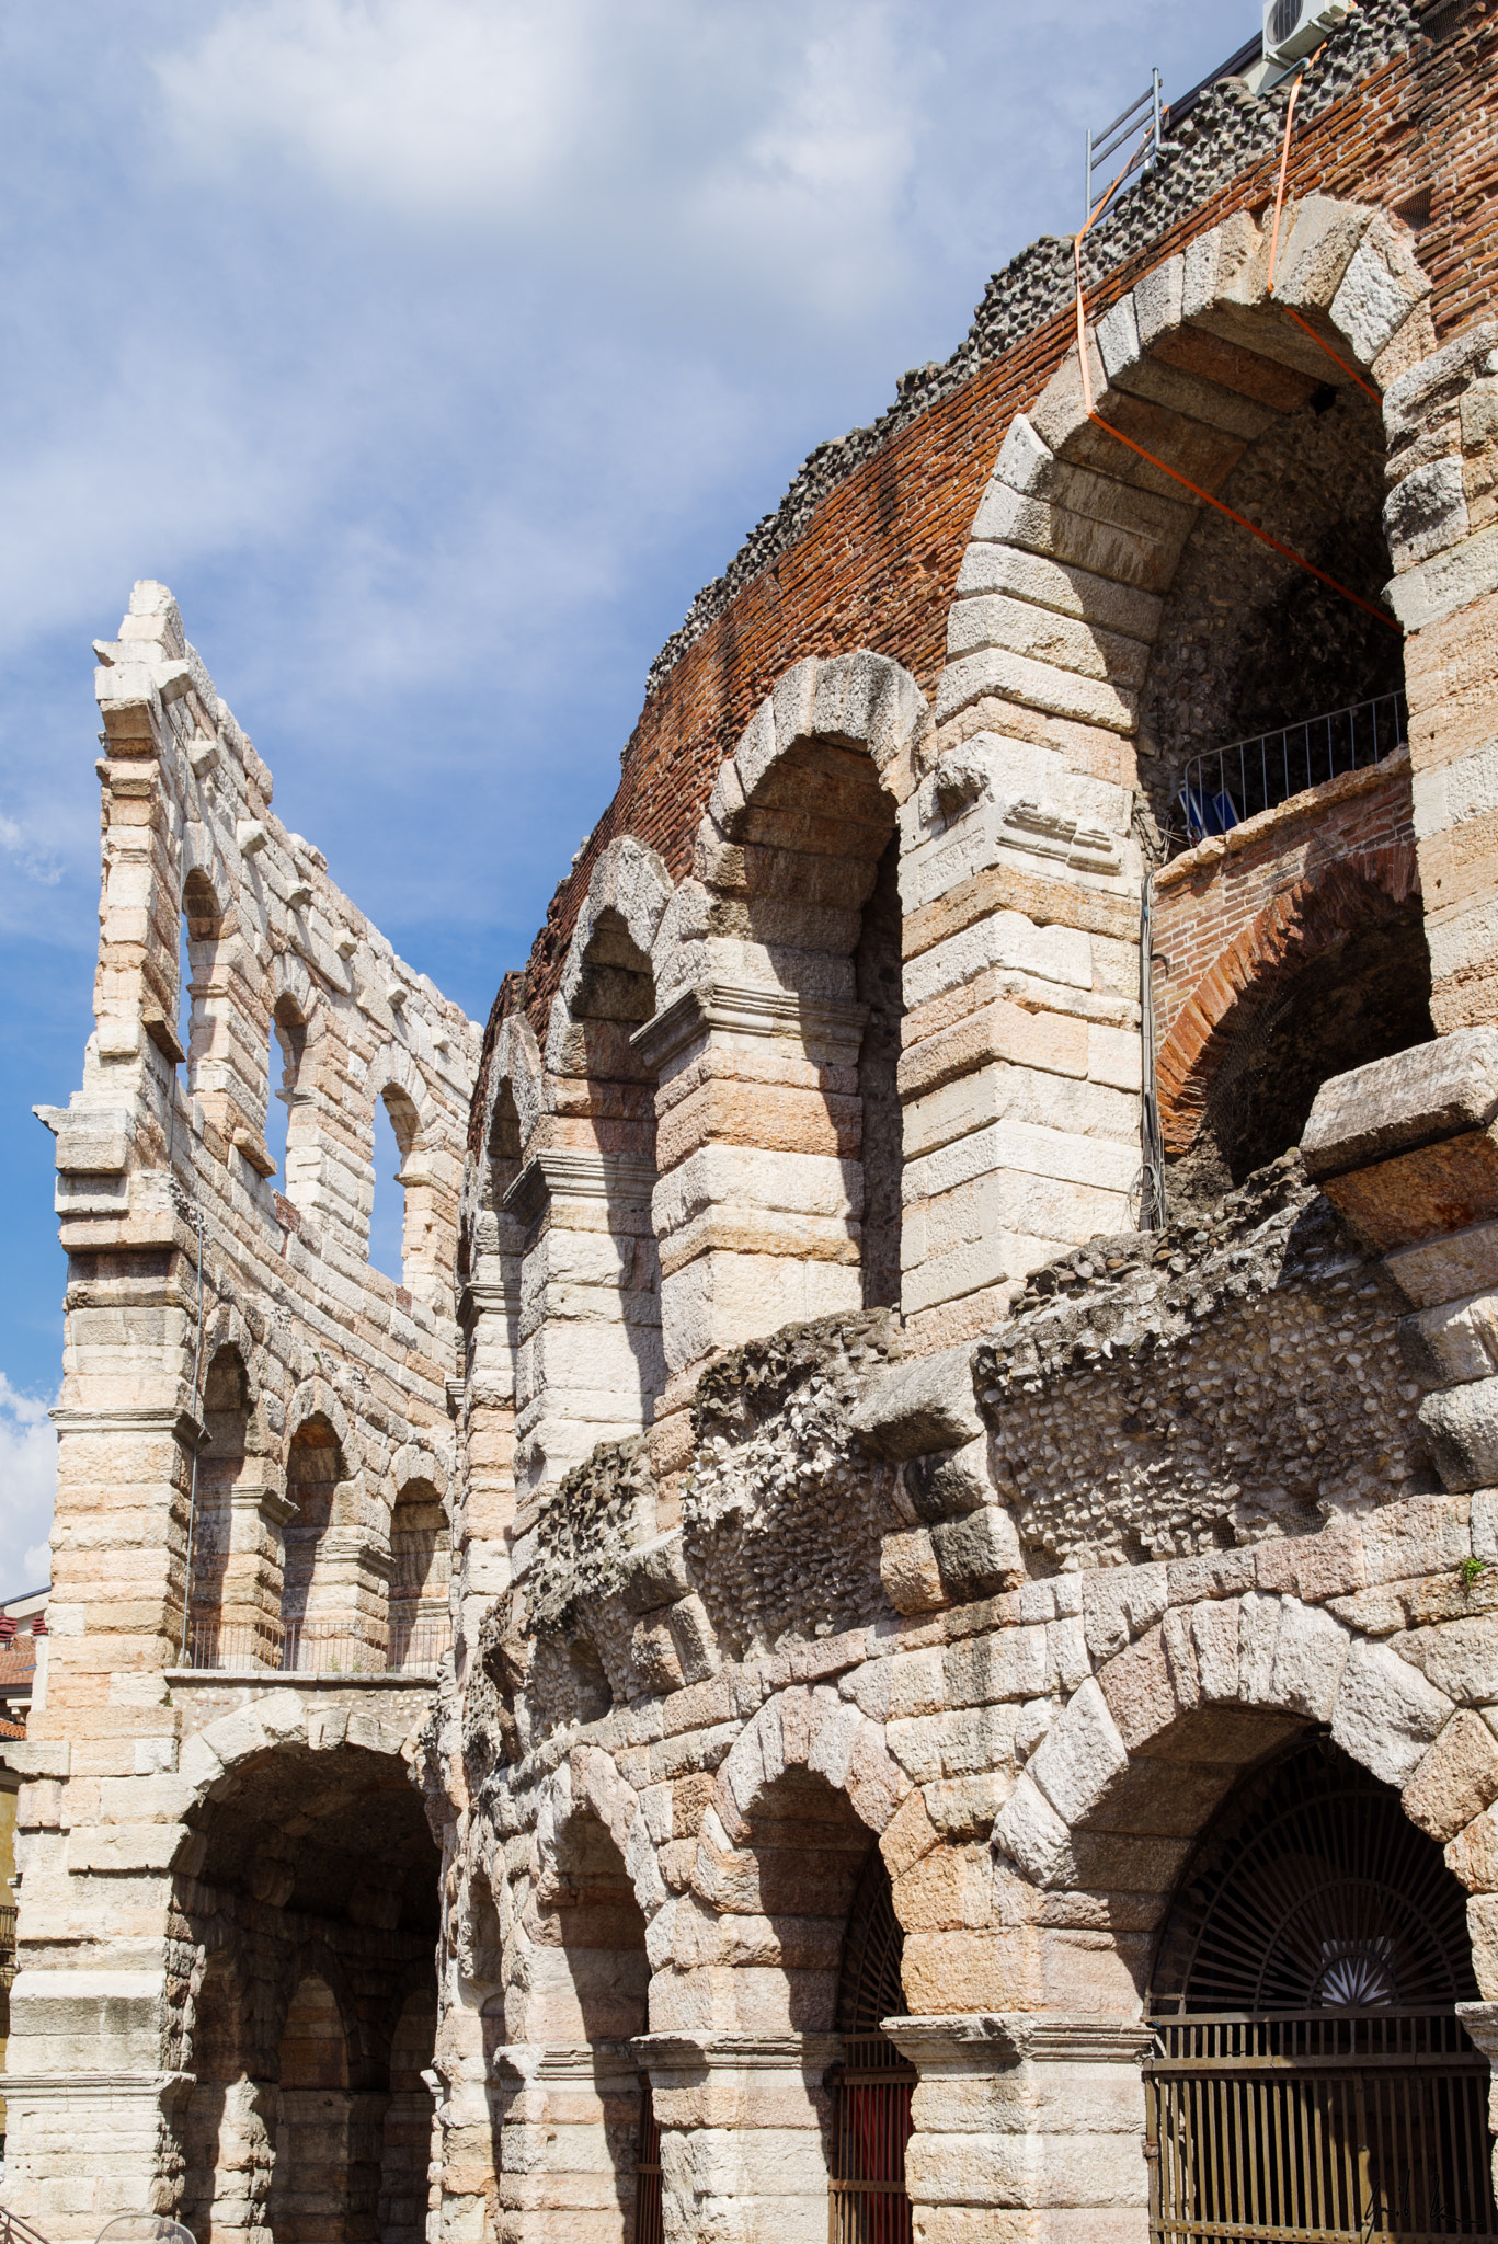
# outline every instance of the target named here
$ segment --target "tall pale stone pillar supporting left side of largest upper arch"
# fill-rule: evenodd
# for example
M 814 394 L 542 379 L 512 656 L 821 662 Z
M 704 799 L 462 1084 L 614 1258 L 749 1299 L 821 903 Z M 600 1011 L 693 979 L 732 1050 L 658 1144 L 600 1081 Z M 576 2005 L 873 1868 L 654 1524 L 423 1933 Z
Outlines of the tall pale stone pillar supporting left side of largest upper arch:
M 984 606 L 952 608 L 954 642 Z M 1132 792 L 1008 723 L 946 727 L 901 808 L 901 1304 L 950 1340 L 1002 1317 L 1040 1263 L 1132 1230 L 1141 1162 Z M 1132 776 L 1123 741 L 1098 763 Z

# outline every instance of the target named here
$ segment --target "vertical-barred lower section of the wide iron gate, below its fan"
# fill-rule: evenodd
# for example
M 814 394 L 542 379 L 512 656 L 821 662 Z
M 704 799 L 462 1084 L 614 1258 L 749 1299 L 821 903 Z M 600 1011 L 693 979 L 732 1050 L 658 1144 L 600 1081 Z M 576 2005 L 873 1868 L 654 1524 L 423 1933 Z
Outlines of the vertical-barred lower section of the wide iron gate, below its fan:
M 1489 2064 L 1451 2011 L 1157 2020 L 1154 2244 L 1494 2244 Z

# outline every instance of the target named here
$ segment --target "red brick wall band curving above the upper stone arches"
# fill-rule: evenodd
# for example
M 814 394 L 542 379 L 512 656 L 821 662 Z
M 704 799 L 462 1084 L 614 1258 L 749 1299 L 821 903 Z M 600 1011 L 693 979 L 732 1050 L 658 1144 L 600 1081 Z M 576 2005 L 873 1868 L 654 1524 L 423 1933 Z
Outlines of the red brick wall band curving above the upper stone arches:
M 1410 206 L 1415 218 L 1417 197 L 1428 195 L 1419 256 L 1435 280 L 1433 316 L 1444 337 L 1491 310 L 1494 298 L 1498 0 L 1467 7 L 1455 0 L 1426 11 L 1431 20 L 1437 13 L 1446 29 L 1437 25 L 1435 38 L 1417 34 L 1406 54 L 1296 132 L 1289 195 L 1321 191 Z M 1267 155 L 1233 177 L 1175 231 L 1118 265 L 1091 310 L 1103 312 L 1143 272 L 1231 211 L 1264 206 L 1273 173 L 1276 155 Z M 894 435 L 822 500 L 800 543 L 752 579 L 676 662 L 640 714 L 618 794 L 557 891 L 523 983 L 505 978 L 490 1041 L 501 1008 L 517 1003 L 546 1032 L 593 862 L 611 839 L 638 835 L 676 877 L 687 871 L 719 763 L 784 669 L 802 655 L 871 646 L 903 662 L 928 693 L 934 689 L 948 604 L 984 482 L 1011 417 L 1033 404 L 1071 339 L 1071 316 L 1060 314 Z

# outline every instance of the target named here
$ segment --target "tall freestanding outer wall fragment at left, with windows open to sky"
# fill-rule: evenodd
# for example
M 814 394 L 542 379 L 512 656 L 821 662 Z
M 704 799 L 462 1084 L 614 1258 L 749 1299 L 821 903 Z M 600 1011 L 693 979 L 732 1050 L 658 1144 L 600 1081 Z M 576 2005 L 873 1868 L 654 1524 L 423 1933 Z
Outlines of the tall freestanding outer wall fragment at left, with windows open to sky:
M 67 1252 L 49 1692 L 7 1744 L 29 1779 L 11 2170 L 49 2235 L 175 2204 L 191 2168 L 184 2004 L 211 1937 L 182 1914 L 180 1878 L 202 1865 L 195 1717 L 168 1672 L 258 1674 L 258 1699 L 283 1663 L 312 1699 L 312 1670 L 382 1672 L 395 1560 L 409 1575 L 447 1533 L 478 1057 L 463 1012 L 276 819 L 272 774 L 171 592 L 137 583 L 97 655 L 97 1026 L 81 1088 L 40 1115 Z M 285 1176 L 267 1149 L 276 1095 Z M 402 1147 L 402 1281 L 368 1263 L 377 1100 Z M 440 1582 L 436 1548 L 420 1569 Z M 400 1735 L 371 1753 L 422 1714 L 438 1652 L 424 1645 Z M 249 1750 L 285 1735 L 229 1721 Z M 112 2150 L 79 2163 L 90 2094 Z

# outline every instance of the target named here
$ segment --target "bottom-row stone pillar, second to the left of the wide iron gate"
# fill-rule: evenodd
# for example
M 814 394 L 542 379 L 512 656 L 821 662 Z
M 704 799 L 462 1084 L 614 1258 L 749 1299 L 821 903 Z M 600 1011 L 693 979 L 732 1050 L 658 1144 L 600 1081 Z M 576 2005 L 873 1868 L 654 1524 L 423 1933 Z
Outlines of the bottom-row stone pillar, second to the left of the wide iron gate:
M 835 2033 L 642 2033 L 667 2244 L 826 2244 Z

